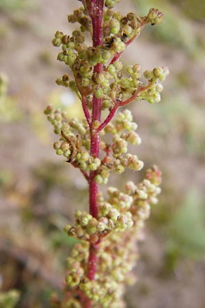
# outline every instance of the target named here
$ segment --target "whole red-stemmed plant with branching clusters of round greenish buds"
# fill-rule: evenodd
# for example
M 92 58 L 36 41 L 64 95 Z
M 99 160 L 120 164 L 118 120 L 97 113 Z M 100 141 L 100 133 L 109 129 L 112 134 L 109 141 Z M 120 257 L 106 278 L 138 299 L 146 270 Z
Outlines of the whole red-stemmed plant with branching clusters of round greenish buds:
M 74 225 L 65 227 L 81 242 L 68 257 L 65 296 L 53 298 L 55 307 L 124 307 L 124 286 L 133 283 L 131 270 L 138 259 L 135 242 L 161 192 L 161 171 L 156 166 L 147 170 L 139 185 L 128 181 L 123 191 L 109 187 L 107 196 L 98 189 L 107 184 L 111 172 L 143 168 L 137 155 L 127 153 L 129 143 L 141 143 L 137 124 L 130 110 L 117 111 L 132 101 L 159 102 L 161 81 L 169 73 L 166 67 L 156 67 L 143 72 L 141 81 L 139 64 L 124 70 L 119 58 L 126 47 L 146 24 L 161 23 L 163 13 L 151 8 L 147 16 L 133 12 L 122 16 L 113 11 L 118 1 L 81 1 L 83 6 L 68 15 L 79 29 L 72 36 L 57 31 L 53 39 L 54 46 L 61 47 L 57 59 L 70 68 L 70 75 L 56 82 L 77 94 L 85 119 L 69 118 L 51 105 L 45 114 L 59 135 L 53 145 L 57 155 L 79 168 L 88 183 L 90 205 L 89 212 L 77 210 Z M 85 32 L 92 46 L 85 44 Z M 104 119 L 102 110 L 107 111 Z

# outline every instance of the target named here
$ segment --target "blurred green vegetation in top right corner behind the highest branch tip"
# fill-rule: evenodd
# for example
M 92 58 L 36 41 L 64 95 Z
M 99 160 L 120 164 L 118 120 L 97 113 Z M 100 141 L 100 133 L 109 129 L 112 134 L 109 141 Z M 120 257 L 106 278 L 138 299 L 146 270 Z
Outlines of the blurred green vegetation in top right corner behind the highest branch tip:
M 201 31 L 195 29 L 189 17 L 184 14 L 183 10 L 179 9 L 180 6 L 187 8 L 189 6 L 187 5 L 187 1 L 184 1 L 186 5 L 183 5 L 183 1 L 177 1 L 177 4 L 180 3 L 180 5 L 173 5 L 173 2 L 176 3 L 176 1 L 168 0 L 135 0 L 138 11 L 142 15 L 145 14 L 150 7 L 159 8 L 159 10 L 163 11 L 165 14 L 163 27 L 154 27 L 154 29 L 150 29 L 150 38 L 153 40 L 158 39 L 160 42 L 182 49 L 184 53 L 187 53 L 194 59 L 202 61 L 205 47 L 204 35 Z M 197 12 L 204 12 L 203 1 L 197 1 L 194 5 L 190 5 L 190 8 L 193 8 L 193 6 Z M 203 14 L 204 13 L 202 13 L 202 20 L 204 21 L 205 16 L 203 16 Z

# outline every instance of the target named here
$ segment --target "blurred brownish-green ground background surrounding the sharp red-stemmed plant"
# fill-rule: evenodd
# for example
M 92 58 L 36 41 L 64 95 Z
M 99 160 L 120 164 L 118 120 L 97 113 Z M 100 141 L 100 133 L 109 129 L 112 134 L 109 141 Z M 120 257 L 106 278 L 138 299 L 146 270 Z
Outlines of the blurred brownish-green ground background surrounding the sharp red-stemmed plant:
M 43 114 L 46 104 L 81 116 L 76 98 L 55 79 L 66 73 L 51 45 L 69 34 L 71 0 L 0 0 L 0 308 L 49 308 L 60 292 L 74 240 L 64 235 L 75 209 L 87 208 L 78 170 L 57 157 Z M 142 144 L 133 149 L 163 171 L 163 192 L 146 224 L 146 240 L 128 289 L 128 308 L 205 308 L 205 2 L 121 1 L 116 10 L 165 22 L 147 26 L 128 47 L 125 64 L 169 66 L 161 103 L 132 103 Z M 111 179 L 123 187 L 126 172 Z

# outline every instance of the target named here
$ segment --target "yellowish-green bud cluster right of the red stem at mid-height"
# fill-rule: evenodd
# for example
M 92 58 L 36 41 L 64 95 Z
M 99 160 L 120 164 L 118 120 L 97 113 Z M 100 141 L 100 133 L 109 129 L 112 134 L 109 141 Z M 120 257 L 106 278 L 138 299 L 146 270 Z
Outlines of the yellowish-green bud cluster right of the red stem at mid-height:
M 133 122 L 133 115 L 130 110 L 118 113 L 115 120 L 110 122 L 104 131 L 104 134 L 111 134 L 110 143 L 101 142 L 101 149 L 105 151 L 105 157 L 98 169 L 95 177 L 96 183 L 107 183 L 111 170 L 121 174 L 129 168 L 139 171 L 143 168 L 143 162 L 138 159 L 137 155 L 127 153 L 128 143 L 132 145 L 141 144 L 141 138 L 135 132 L 137 124 Z

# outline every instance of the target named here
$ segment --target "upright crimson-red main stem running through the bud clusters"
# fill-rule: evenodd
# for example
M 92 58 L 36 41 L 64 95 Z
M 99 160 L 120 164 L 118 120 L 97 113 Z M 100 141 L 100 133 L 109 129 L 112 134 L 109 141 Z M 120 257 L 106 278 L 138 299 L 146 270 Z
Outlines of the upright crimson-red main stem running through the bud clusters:
M 102 18 L 103 18 L 103 0 L 92 0 L 87 1 L 88 10 L 90 11 L 90 18 L 92 20 L 92 29 L 93 29 L 93 47 L 97 47 L 102 44 Z M 94 73 L 102 72 L 102 64 L 96 64 L 94 67 Z M 100 123 L 100 115 L 101 115 L 101 103 L 102 99 L 97 99 L 94 95 L 92 101 L 92 124 L 94 121 L 98 121 Z M 100 152 L 100 133 L 96 133 L 92 129 L 90 129 L 91 135 L 91 146 L 90 146 L 90 155 L 93 157 L 99 157 Z M 98 218 L 98 185 L 96 184 L 94 178 L 96 176 L 96 171 L 90 172 L 90 181 L 89 181 L 89 201 L 90 201 L 90 214 L 94 218 Z M 96 266 L 98 261 L 98 247 L 99 244 L 90 243 L 90 253 L 88 259 L 88 268 L 87 268 L 87 278 L 90 280 L 94 280 L 96 273 Z M 87 303 L 86 308 L 92 307 L 91 300 Z

